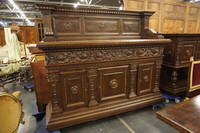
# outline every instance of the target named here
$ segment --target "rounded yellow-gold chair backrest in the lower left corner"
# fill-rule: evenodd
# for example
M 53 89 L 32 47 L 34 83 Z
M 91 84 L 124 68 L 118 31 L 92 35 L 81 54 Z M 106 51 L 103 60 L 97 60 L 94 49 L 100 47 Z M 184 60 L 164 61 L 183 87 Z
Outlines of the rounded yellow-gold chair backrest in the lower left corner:
M 22 102 L 16 98 L 19 95 L 18 92 L 14 95 L 0 93 L 0 133 L 17 132 L 23 118 Z

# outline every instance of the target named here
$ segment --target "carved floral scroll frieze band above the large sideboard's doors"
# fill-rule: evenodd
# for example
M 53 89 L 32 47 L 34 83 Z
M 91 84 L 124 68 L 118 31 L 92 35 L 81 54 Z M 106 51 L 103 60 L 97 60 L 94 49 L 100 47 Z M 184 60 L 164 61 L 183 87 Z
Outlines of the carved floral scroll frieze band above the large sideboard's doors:
M 112 49 L 94 51 L 72 51 L 47 53 L 47 65 L 63 63 L 79 63 L 89 61 L 109 61 L 119 59 L 131 59 L 135 57 L 151 57 L 163 54 L 163 48 L 135 48 L 135 49 Z

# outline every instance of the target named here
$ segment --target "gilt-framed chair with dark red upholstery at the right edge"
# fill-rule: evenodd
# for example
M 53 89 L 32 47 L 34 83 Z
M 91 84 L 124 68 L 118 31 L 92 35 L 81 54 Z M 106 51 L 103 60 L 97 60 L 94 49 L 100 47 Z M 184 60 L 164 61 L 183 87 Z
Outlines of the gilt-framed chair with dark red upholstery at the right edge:
M 187 98 L 192 98 L 200 94 L 200 61 L 194 61 L 191 57 L 189 87 Z

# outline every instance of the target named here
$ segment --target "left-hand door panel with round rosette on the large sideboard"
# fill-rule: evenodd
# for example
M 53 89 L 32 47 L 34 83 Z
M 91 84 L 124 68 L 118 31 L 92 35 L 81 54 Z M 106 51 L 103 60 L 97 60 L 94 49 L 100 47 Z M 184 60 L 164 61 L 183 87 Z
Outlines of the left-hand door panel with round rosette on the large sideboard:
M 86 74 L 84 70 L 61 72 L 64 109 L 87 106 Z

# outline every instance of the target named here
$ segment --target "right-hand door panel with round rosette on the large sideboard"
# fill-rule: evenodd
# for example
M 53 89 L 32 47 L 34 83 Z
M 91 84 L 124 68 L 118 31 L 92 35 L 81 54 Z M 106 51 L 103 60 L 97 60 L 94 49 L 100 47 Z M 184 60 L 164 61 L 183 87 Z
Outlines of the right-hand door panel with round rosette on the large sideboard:
M 146 63 L 139 65 L 137 95 L 143 95 L 153 91 L 155 86 L 155 65 Z

